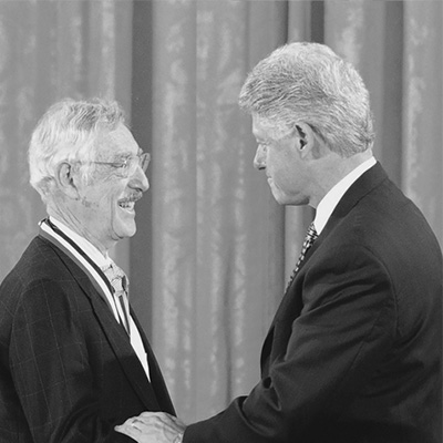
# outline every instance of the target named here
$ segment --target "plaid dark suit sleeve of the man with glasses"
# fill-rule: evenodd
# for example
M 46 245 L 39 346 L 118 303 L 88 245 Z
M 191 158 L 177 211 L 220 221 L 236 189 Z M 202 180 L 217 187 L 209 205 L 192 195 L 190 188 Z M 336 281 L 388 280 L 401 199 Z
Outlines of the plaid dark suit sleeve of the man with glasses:
M 99 395 L 84 330 L 54 281 L 39 280 L 20 295 L 10 364 L 35 443 L 130 442 L 99 419 Z

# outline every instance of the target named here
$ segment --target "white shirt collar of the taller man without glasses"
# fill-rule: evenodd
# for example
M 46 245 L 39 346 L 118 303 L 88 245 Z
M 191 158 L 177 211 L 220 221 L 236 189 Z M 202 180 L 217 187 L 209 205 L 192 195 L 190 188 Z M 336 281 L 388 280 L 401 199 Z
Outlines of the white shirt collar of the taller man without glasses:
M 343 177 L 337 185 L 334 185 L 328 194 L 321 199 L 317 206 L 316 218 L 313 224 L 316 226 L 317 234 L 323 230 L 329 217 L 331 216 L 333 209 L 340 202 L 344 193 L 351 187 L 351 185 L 369 168 L 371 168 L 377 163 L 374 157 L 371 157 L 357 166 L 351 171 L 346 177 Z

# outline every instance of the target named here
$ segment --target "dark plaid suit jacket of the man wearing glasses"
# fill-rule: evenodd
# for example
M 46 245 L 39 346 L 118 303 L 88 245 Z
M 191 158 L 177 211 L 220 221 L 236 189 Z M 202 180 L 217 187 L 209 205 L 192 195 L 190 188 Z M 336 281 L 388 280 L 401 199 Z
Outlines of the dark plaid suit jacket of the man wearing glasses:
M 174 413 L 140 331 L 151 383 L 86 274 L 35 237 L 0 287 L 0 442 L 132 442 L 114 425 L 146 410 Z

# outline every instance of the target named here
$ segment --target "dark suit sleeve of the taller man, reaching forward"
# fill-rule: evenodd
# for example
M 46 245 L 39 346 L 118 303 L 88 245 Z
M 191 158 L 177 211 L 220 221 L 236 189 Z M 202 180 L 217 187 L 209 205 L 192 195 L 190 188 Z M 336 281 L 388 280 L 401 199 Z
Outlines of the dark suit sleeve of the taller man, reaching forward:
M 322 416 L 339 416 L 383 359 L 395 334 L 390 276 L 356 246 L 312 256 L 289 289 L 301 315 L 276 317 L 269 372 L 248 396 L 192 424 L 184 443 L 303 443 Z

